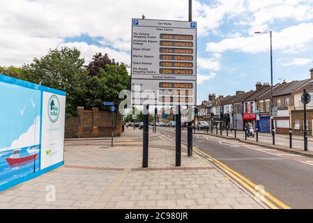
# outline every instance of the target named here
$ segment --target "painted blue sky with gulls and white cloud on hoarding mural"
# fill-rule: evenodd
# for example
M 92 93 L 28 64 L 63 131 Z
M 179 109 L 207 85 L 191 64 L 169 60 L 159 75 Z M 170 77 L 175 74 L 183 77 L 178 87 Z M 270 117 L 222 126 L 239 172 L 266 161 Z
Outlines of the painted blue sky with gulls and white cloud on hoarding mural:
M 40 130 L 40 91 L 0 82 L 0 95 L 5 105 L 0 107 L 0 151 L 13 141 L 17 148 L 34 145 Z M 31 128 L 35 120 L 36 128 Z

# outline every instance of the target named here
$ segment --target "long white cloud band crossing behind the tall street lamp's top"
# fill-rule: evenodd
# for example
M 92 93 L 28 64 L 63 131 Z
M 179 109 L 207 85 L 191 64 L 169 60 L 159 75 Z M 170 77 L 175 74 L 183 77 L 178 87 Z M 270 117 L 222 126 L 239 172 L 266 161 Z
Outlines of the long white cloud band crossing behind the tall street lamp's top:
M 313 40 L 313 23 L 302 23 L 290 26 L 279 32 L 273 31 L 273 49 L 303 49 L 307 43 Z M 207 43 L 207 52 L 266 52 L 269 49 L 268 34 L 259 34 L 248 37 L 227 38 L 219 43 Z

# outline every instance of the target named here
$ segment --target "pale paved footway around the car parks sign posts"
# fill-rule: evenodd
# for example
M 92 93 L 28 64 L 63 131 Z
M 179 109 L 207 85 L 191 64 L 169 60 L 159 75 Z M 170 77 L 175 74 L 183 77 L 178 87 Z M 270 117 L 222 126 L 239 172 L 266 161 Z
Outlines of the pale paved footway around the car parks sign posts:
M 151 131 L 143 169 L 141 135 L 125 129 L 114 147 L 109 140 L 66 141 L 66 164 L 1 192 L 0 208 L 277 208 L 196 148 L 188 157 L 183 144 L 175 167 L 174 138 L 162 131 Z

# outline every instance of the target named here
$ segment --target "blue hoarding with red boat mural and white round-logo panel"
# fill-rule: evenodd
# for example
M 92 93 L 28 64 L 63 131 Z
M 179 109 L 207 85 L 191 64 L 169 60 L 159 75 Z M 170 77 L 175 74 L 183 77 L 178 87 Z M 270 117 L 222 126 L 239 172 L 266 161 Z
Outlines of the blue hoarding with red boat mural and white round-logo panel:
M 0 95 L 2 191 L 63 164 L 66 93 L 0 74 Z

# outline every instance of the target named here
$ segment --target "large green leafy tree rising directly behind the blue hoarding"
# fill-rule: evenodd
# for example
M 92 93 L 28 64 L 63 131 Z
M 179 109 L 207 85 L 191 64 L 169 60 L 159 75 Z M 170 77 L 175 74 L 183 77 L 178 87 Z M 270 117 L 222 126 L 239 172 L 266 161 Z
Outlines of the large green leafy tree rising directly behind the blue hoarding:
M 84 105 L 88 73 L 77 49 L 50 49 L 46 56 L 33 59 L 22 67 L 22 79 L 66 91 L 66 116 L 77 116 L 77 106 Z

